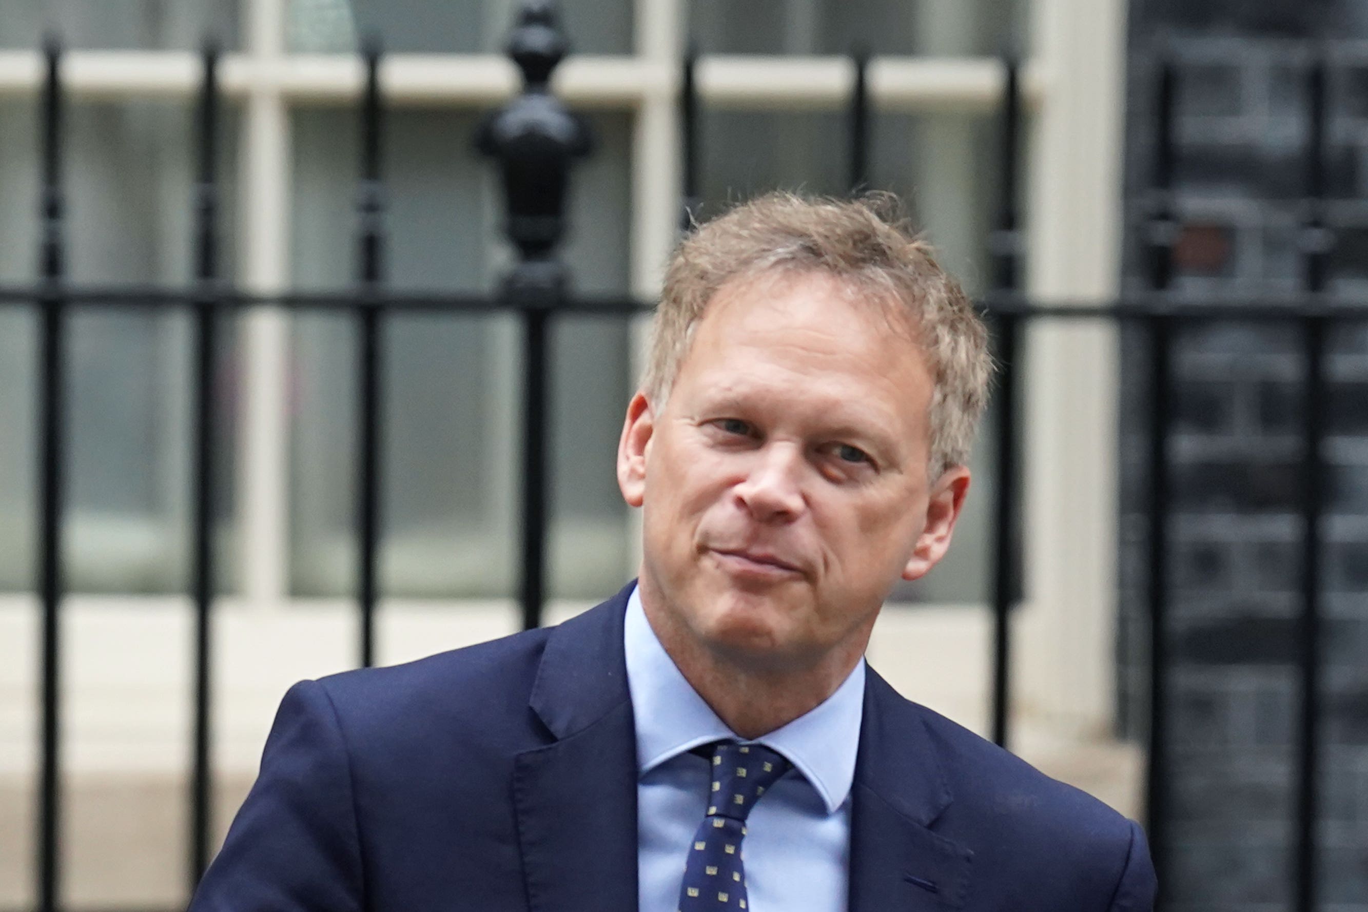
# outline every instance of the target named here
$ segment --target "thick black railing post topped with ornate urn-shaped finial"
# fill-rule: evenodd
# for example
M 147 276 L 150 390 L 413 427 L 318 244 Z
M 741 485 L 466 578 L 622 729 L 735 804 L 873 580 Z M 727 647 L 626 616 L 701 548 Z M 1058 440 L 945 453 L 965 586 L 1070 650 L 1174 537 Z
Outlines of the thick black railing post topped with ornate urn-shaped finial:
M 524 0 L 509 40 L 523 71 L 523 93 L 480 126 L 482 153 L 498 160 L 508 206 L 506 231 L 518 263 L 503 282 L 505 297 L 523 313 L 523 626 L 542 623 L 546 600 L 547 454 L 550 366 L 547 316 L 566 290 L 557 246 L 565 234 L 570 165 L 587 156 L 587 124 L 551 94 L 551 72 L 568 51 L 553 0 Z

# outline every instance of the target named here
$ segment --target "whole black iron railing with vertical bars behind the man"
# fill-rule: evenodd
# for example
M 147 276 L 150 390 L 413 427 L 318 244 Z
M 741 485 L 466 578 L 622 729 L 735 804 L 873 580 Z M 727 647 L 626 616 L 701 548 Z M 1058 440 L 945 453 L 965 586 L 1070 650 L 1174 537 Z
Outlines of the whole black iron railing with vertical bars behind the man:
M 357 361 L 360 365 L 358 409 L 358 506 L 357 532 L 357 606 L 358 659 L 371 665 L 376 654 L 375 608 L 378 596 L 376 554 L 379 543 L 380 462 L 384 416 L 382 412 L 383 364 L 382 338 L 390 314 L 412 310 L 435 312 L 512 312 L 524 325 L 525 357 L 523 365 L 525 433 L 521 514 L 520 602 L 524 626 L 542 622 L 544 600 L 544 562 L 547 535 L 547 446 L 549 412 L 546 334 L 551 320 L 561 314 L 636 314 L 650 302 L 621 297 L 572 294 L 565 269 L 555 256 L 564 230 L 564 196 L 572 160 L 590 149 L 584 124 L 550 93 L 550 74 L 565 52 L 549 4 L 529 4 L 514 31 L 510 53 L 524 74 L 524 92 L 495 112 L 480 129 L 480 149 L 495 159 L 502 171 L 508 198 L 508 234 L 518 250 L 518 260 L 508 280 L 494 295 L 446 293 L 398 293 L 384 286 L 384 176 L 382 149 L 383 97 L 379 85 L 382 53 L 376 42 L 363 52 L 365 90 L 361 101 L 361 160 L 357 194 L 357 282 L 338 293 L 285 293 L 254 295 L 234 287 L 219 275 L 219 179 L 215 171 L 219 150 L 219 53 L 213 46 L 202 56 L 204 79 L 198 100 L 197 185 L 194 194 L 194 283 L 183 289 L 120 286 L 75 286 L 66 280 L 63 160 L 63 94 L 59 78 L 60 49 L 47 48 L 47 78 L 41 96 L 42 123 L 42 190 L 41 190 L 41 279 L 33 286 L 0 287 L 0 304 L 31 306 L 41 314 L 41 358 L 38 384 L 38 578 L 41 602 L 41 770 L 38 803 L 37 905 L 41 912 L 59 907 L 60 868 L 60 692 L 62 643 L 59 618 L 63 602 L 62 528 L 64 520 L 66 479 L 66 328 L 73 309 L 101 308 L 183 308 L 194 314 L 194 438 L 193 446 L 193 548 L 192 593 L 196 608 L 194 654 L 194 744 L 190 790 L 190 857 L 189 881 L 196 883 L 211 857 L 211 618 L 213 614 L 215 566 L 211 548 L 211 505 L 215 496 L 213 462 L 216 325 L 239 308 L 275 306 L 291 310 L 332 309 L 354 314 L 360 328 Z M 684 211 L 698 205 L 700 186 L 699 98 L 694 71 L 696 51 L 684 60 L 680 111 L 683 113 L 683 191 Z M 852 189 L 869 180 L 869 131 L 873 120 L 866 81 L 867 55 L 852 55 L 856 79 L 850 100 L 850 161 Z M 1368 314 L 1342 302 L 1326 298 L 1326 264 L 1331 235 L 1324 227 L 1324 96 L 1323 68 L 1315 68 L 1309 81 L 1312 116 L 1306 141 L 1306 220 L 1302 232 L 1304 294 L 1283 298 L 1215 301 L 1175 294 L 1174 245 L 1178 219 L 1172 202 L 1174 72 L 1164 68 L 1159 79 L 1156 116 L 1156 156 L 1153 167 L 1153 208 L 1149 217 L 1148 273 L 1150 291 L 1116 302 L 1079 305 L 1033 305 L 1021 294 L 1023 237 L 1016 211 L 1019 186 L 1018 159 L 1022 137 L 1022 104 L 1018 67 L 1014 59 L 1003 62 L 1004 103 L 1001 105 L 1000 189 L 996 227 L 989 239 L 993 256 L 993 290 L 985 297 L 984 310 L 990 321 L 1000 375 L 996 388 L 996 465 L 999 484 L 993 506 L 992 610 L 993 610 L 993 681 L 992 736 L 999 744 L 1010 738 L 1011 706 L 1010 618 L 1019 591 L 1019 561 L 1015 541 L 1019 526 L 1021 435 L 1016 409 L 1021 364 L 1019 338 L 1026 323 L 1041 320 L 1101 320 L 1144 325 L 1150 339 L 1150 427 L 1148 451 L 1148 572 L 1150 617 L 1150 725 L 1146 774 L 1146 818 L 1152 850 L 1161 882 L 1171 852 L 1168 820 L 1170 721 L 1166 689 L 1170 656 L 1167 649 L 1167 607 L 1170 558 L 1172 544 L 1167 518 L 1172 511 L 1172 485 L 1167 444 L 1174 414 L 1171 353 L 1175 328 L 1198 321 L 1263 321 L 1301 327 L 1305 364 L 1305 409 L 1302 423 L 1304 458 L 1301 515 L 1302 533 L 1302 615 L 1300 625 L 1300 670 L 1302 682 L 1301 727 L 1297 763 L 1297 909 L 1315 907 L 1315 874 L 1319 864 L 1316 845 L 1317 719 L 1320 692 L 1317 648 L 1320 617 L 1319 567 L 1321 559 L 1320 515 L 1323 510 L 1323 439 L 1324 416 L 1324 347 L 1327 328 L 1332 324 L 1365 320 Z M 687 224 L 687 215 L 685 222 Z M 1235 306 L 1238 305 L 1238 306 Z M 605 580 L 605 591 L 618 581 Z

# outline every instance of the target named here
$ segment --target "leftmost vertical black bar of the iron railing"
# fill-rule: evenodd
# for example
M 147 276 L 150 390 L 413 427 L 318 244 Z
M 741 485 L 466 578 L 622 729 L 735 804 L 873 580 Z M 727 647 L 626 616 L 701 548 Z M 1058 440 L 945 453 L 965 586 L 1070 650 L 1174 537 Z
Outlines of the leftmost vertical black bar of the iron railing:
M 62 520 L 66 440 L 66 272 L 62 190 L 62 49 L 49 38 L 44 49 L 42 89 L 42 313 L 38 362 L 38 600 L 42 606 L 42 760 L 38 783 L 38 909 L 55 912 L 60 881 L 60 619 Z

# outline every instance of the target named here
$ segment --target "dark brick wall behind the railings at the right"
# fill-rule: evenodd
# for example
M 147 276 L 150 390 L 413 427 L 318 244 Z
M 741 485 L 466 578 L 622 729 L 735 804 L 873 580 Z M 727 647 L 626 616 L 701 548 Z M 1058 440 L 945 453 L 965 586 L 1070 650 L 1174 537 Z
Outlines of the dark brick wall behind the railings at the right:
M 1324 42 L 1324 44 L 1321 44 Z M 1331 289 L 1368 313 L 1368 4 L 1134 0 L 1127 100 L 1126 287 L 1140 254 L 1159 49 L 1178 60 L 1175 287 L 1300 287 L 1305 72 L 1331 59 Z M 1238 305 L 1233 305 L 1238 317 Z M 1148 340 L 1122 346 L 1123 727 L 1146 718 Z M 1320 908 L 1368 912 L 1368 323 L 1331 335 L 1323 585 Z M 1171 628 L 1171 908 L 1291 908 L 1300 710 L 1297 515 L 1302 360 L 1291 327 L 1179 332 L 1170 440 L 1176 510 Z

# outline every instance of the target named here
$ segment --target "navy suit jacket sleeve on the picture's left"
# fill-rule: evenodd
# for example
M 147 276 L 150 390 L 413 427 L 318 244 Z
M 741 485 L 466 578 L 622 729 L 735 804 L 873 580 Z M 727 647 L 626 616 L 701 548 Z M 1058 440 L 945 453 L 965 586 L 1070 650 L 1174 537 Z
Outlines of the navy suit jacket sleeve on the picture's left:
M 190 912 L 360 912 L 352 771 L 337 710 L 316 681 L 285 695 L 261 773 Z

